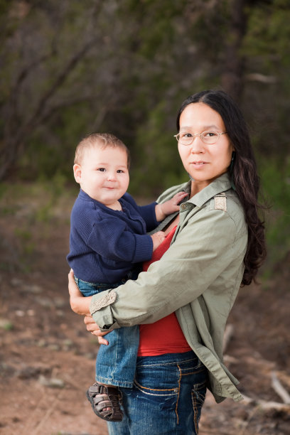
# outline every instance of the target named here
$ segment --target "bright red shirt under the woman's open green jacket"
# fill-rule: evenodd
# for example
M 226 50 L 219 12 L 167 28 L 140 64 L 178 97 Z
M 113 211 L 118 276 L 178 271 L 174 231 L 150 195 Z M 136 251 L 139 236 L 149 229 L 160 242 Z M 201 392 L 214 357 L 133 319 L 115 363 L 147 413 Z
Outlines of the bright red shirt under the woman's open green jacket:
M 150 264 L 161 259 L 164 252 L 171 244 L 176 227 L 166 235 L 166 239 L 155 249 L 149 262 L 144 262 L 143 270 Z M 161 318 L 155 323 L 140 325 L 140 342 L 138 356 L 163 355 L 164 353 L 183 353 L 191 350 L 183 335 L 181 326 L 176 318 L 176 313 Z

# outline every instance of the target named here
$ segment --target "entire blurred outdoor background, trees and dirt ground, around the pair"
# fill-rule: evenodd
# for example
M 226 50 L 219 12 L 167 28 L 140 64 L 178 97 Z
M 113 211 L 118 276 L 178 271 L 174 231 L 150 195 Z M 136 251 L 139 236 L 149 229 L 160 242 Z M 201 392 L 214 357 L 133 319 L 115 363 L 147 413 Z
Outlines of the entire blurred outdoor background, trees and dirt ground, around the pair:
M 188 178 L 181 102 L 215 88 L 249 124 L 268 257 L 228 321 L 225 363 L 245 400 L 208 394 L 200 435 L 289 434 L 289 393 L 272 386 L 274 373 L 290 391 L 289 23 L 289 0 L 0 0 L 1 433 L 107 434 L 85 399 L 97 342 L 68 302 L 75 147 L 119 136 L 130 192 L 154 200 Z

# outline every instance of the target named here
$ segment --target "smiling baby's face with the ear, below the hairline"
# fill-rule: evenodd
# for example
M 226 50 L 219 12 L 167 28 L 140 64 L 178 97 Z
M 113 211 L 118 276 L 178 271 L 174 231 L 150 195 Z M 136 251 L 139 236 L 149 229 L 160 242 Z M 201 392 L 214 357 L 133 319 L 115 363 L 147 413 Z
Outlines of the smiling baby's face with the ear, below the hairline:
M 124 149 L 87 149 L 82 164 L 75 165 L 75 180 L 91 198 L 114 209 L 129 186 L 127 163 Z

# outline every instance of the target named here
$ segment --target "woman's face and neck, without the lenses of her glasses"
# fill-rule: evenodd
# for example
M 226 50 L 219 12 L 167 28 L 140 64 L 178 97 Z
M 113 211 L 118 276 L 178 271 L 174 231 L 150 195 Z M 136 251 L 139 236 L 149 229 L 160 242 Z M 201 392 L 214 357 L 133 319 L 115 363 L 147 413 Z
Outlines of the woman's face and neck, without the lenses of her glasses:
M 188 104 L 181 113 L 180 133 L 192 135 L 208 130 L 225 133 L 220 114 L 202 102 Z M 195 136 L 190 145 L 178 142 L 178 151 L 184 168 L 194 180 L 193 187 L 197 193 L 227 172 L 234 148 L 227 134 L 221 134 L 213 145 L 204 144 L 200 136 Z

